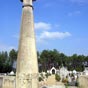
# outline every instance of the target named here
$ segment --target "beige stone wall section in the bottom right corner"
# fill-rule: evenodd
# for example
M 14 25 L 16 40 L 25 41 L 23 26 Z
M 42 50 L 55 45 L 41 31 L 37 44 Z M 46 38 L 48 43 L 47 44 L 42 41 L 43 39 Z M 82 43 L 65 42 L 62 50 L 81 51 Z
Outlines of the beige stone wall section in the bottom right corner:
M 79 77 L 79 88 L 88 88 L 88 76 Z

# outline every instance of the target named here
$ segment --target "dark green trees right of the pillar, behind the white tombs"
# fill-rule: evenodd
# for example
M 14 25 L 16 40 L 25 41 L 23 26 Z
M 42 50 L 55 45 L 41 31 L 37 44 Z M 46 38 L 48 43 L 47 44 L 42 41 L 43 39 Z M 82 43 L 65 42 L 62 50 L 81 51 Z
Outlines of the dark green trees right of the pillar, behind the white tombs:
M 73 54 L 72 56 L 66 56 L 64 53 L 59 53 L 56 49 L 54 50 L 43 50 L 40 55 L 39 63 L 41 71 L 51 69 L 51 67 L 66 66 L 68 70 L 73 71 L 84 71 L 83 62 L 88 61 L 88 56 Z M 43 70 L 42 70 L 43 69 Z

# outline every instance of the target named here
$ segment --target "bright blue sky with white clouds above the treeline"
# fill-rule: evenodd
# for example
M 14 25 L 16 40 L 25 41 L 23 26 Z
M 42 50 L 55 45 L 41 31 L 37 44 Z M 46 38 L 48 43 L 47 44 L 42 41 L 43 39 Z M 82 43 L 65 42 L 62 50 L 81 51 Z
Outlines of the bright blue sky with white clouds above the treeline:
M 22 3 L 0 0 L 0 51 L 18 49 Z M 88 55 L 88 0 L 33 2 L 38 51 L 57 49 L 66 55 Z

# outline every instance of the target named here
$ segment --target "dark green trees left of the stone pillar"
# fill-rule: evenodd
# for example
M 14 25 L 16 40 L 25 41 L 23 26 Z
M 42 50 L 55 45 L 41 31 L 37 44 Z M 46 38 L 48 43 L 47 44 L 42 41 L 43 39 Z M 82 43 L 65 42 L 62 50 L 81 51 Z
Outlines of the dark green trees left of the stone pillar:
M 12 49 L 8 53 L 5 52 L 0 52 L 0 73 L 7 73 L 12 71 L 12 65 L 14 60 L 17 59 L 17 51 Z

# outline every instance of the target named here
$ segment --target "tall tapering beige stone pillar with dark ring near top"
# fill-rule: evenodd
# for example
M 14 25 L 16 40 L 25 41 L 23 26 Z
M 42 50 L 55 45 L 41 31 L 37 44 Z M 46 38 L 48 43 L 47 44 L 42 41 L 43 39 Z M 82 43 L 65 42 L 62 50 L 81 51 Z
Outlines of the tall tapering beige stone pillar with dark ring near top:
M 38 88 L 33 6 L 35 0 L 21 0 L 22 23 L 17 58 L 16 88 Z

